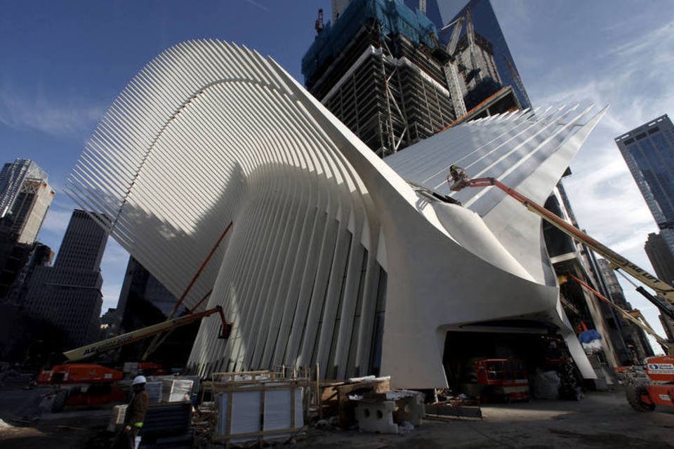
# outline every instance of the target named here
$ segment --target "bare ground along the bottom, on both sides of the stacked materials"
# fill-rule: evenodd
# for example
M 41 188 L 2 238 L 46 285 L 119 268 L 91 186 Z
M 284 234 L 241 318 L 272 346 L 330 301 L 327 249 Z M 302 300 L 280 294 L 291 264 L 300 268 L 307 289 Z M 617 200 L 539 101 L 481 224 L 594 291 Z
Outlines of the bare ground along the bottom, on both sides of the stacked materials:
M 0 448 L 107 448 L 110 410 L 34 415 L 44 391 L 0 391 Z M 674 410 L 637 413 L 622 391 L 580 402 L 532 401 L 482 408 L 482 420 L 425 420 L 409 434 L 311 428 L 292 447 L 386 448 L 659 448 L 674 449 Z

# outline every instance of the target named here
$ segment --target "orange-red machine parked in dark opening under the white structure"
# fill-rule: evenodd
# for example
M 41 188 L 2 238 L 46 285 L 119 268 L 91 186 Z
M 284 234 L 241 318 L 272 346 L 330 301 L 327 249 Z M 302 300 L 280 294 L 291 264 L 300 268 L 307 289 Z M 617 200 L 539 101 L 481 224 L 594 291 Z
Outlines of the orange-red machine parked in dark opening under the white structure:
M 477 383 L 484 385 L 482 402 L 498 399 L 529 401 L 529 376 L 521 361 L 513 358 L 485 358 L 475 362 Z

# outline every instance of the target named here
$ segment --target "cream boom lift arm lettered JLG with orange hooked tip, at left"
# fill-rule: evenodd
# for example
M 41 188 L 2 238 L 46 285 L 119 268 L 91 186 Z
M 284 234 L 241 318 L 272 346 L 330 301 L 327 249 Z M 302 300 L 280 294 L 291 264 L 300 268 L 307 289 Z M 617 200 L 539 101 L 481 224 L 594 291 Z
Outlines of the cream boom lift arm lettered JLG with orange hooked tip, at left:
M 223 308 L 216 306 L 212 309 L 199 311 L 194 314 L 187 314 L 175 319 L 170 319 L 169 321 L 163 321 L 153 326 L 148 326 L 147 328 L 132 330 L 131 332 L 117 335 L 117 337 L 111 337 L 107 340 L 87 344 L 86 346 L 66 351 L 63 353 L 63 355 L 65 355 L 69 361 L 83 360 L 84 358 L 95 356 L 96 354 L 101 354 L 105 351 L 110 351 L 110 349 L 124 346 L 124 344 L 143 340 L 144 338 L 152 337 L 152 335 L 157 335 L 167 330 L 173 330 L 175 328 L 179 328 L 180 326 L 186 326 L 187 324 L 194 323 L 194 321 L 202 319 L 205 316 L 211 316 L 213 314 L 219 314 L 220 320 L 222 321 L 222 328 L 220 329 L 220 335 L 218 335 L 218 338 L 229 338 L 230 332 L 232 330 L 232 323 L 227 323 L 225 320 Z

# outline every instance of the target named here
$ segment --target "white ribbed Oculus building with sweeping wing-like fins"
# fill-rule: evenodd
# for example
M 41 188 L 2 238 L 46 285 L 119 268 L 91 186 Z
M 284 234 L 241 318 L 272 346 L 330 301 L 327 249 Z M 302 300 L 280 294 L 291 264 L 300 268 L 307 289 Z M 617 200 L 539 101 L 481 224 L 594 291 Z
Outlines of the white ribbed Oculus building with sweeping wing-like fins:
M 324 377 L 444 387 L 448 330 L 532 320 L 558 326 L 593 378 L 541 220 L 498 189 L 465 189 L 461 207 L 413 186 L 449 193 L 458 163 L 541 203 L 600 116 L 493 116 L 382 160 L 274 60 L 187 41 L 119 94 L 68 190 L 176 296 L 233 222 L 185 300 L 213 288 L 202 307 L 234 322 L 227 341 L 201 323 L 198 373 L 319 363 Z

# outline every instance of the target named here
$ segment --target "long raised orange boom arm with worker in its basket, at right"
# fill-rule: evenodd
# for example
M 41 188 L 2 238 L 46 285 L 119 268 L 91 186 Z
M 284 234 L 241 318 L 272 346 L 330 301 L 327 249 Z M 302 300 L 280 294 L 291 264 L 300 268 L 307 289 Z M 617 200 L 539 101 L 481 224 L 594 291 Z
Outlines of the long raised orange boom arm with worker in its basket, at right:
M 655 290 L 658 295 L 665 298 L 668 302 L 674 304 L 674 287 L 656 278 L 656 276 L 653 276 L 634 262 L 630 262 L 625 257 L 616 253 L 614 250 L 588 236 L 588 234 L 582 232 L 580 229 L 565 222 L 543 206 L 539 206 L 538 204 L 534 203 L 534 201 L 531 201 L 531 199 L 527 198 L 527 196 L 520 194 L 520 192 L 517 192 L 514 189 L 511 189 L 507 185 L 503 184 L 503 182 L 496 180 L 493 177 L 479 177 L 470 179 L 465 173 L 465 170 L 458 167 L 456 170 L 453 170 L 452 173 L 454 174 L 452 174 L 451 177 L 447 177 L 447 182 L 451 186 L 451 190 L 454 192 L 458 192 L 465 187 L 498 187 L 498 189 L 503 190 L 503 192 L 508 194 L 508 196 L 515 199 L 515 201 L 521 203 L 522 206 L 543 218 L 543 220 L 546 220 L 546 222 L 550 223 L 550 225 L 560 229 L 560 231 L 564 232 L 564 234 L 571 236 L 572 239 L 581 241 L 581 243 L 584 243 L 589 248 L 592 248 L 595 253 L 605 257 L 613 264 L 614 269 L 622 269 L 624 272 L 630 274 L 630 276 L 633 276 L 633 278 Z M 674 311 L 672 311 L 669 304 L 661 304 L 661 302 L 658 301 L 651 302 L 656 307 L 658 307 L 658 309 L 660 309 L 663 314 L 666 314 L 667 316 L 670 316 L 670 318 L 674 319 Z

